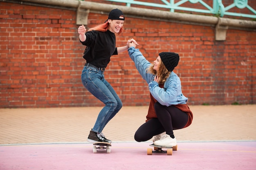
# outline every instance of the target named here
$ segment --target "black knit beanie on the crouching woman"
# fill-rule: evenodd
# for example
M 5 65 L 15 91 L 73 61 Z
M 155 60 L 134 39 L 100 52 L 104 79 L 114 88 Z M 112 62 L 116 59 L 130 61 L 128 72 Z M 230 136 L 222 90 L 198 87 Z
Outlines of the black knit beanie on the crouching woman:
M 169 72 L 173 71 L 180 60 L 179 54 L 174 52 L 161 52 L 159 53 L 159 56 Z

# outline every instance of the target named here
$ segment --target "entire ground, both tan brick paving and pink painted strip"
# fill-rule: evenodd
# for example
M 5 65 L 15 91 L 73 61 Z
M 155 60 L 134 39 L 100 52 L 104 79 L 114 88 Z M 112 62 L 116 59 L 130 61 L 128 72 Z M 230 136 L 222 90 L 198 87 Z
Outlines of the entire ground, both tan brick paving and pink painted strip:
M 86 142 L 101 107 L 0 109 L 0 170 L 255 170 L 256 105 L 190 106 L 172 156 L 147 155 L 133 135 L 148 107 L 123 107 L 104 129 L 111 153 Z M 101 168 L 100 168 L 101 167 Z

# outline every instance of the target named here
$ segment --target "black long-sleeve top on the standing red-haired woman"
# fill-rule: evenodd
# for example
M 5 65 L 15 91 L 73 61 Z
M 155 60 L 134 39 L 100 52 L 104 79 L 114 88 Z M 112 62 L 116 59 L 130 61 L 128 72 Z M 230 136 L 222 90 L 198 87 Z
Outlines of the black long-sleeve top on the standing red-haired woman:
M 112 55 L 117 55 L 116 36 L 111 31 L 88 31 L 85 41 L 80 42 L 87 46 L 83 58 L 86 63 L 97 67 L 107 67 Z

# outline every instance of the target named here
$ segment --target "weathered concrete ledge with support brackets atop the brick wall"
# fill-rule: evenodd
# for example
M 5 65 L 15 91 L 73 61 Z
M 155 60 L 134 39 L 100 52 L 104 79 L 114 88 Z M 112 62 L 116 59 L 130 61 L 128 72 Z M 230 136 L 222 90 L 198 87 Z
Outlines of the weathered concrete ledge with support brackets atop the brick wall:
M 4 0 L 1 0 L 4 1 Z M 216 27 L 216 40 L 224 41 L 229 28 L 247 31 L 256 31 L 256 21 L 236 20 L 229 18 L 218 18 L 214 16 L 194 15 L 187 13 L 172 13 L 154 9 L 144 9 L 137 7 L 126 7 L 120 5 L 103 4 L 78 0 L 12 0 L 11 2 L 33 2 L 36 4 L 49 4 L 60 7 L 72 7 L 77 9 L 76 24 L 87 24 L 89 12 L 106 13 L 112 9 L 122 10 L 126 16 L 139 17 L 147 20 L 164 20 L 166 22 L 181 22 L 185 24 L 200 24 Z M 90 11 L 89 11 L 90 10 Z

